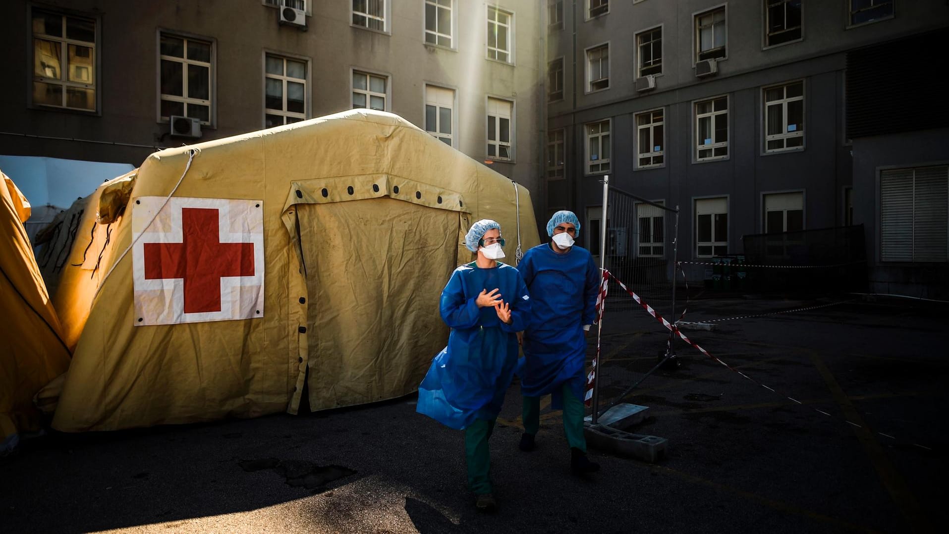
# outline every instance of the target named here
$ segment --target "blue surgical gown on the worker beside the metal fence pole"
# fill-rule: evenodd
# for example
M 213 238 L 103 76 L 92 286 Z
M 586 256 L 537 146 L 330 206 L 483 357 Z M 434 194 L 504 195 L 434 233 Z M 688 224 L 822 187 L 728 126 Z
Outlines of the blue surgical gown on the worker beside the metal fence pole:
M 558 254 L 549 244 L 524 254 L 517 266 L 530 291 L 530 322 L 524 332 L 524 362 L 518 370 L 524 396 L 552 394 L 560 409 L 568 383 L 579 399 L 586 384 L 585 324 L 592 324 L 600 288 L 600 269 L 589 251 L 573 246 Z

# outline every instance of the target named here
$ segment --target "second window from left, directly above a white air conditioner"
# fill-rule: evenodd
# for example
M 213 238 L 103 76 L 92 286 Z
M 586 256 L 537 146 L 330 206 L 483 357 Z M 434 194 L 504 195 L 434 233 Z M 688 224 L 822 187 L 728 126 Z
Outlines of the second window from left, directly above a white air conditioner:
M 212 52 L 209 41 L 161 32 L 161 120 L 181 115 L 211 124 Z

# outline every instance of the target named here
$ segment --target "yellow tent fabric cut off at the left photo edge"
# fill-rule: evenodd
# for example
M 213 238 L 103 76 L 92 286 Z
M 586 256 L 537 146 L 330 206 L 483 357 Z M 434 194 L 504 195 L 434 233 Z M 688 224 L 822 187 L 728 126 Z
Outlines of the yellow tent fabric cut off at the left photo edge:
M 32 398 L 69 366 L 56 311 L 33 257 L 23 222 L 29 203 L 0 173 L 0 452 L 22 433 L 37 431 Z

